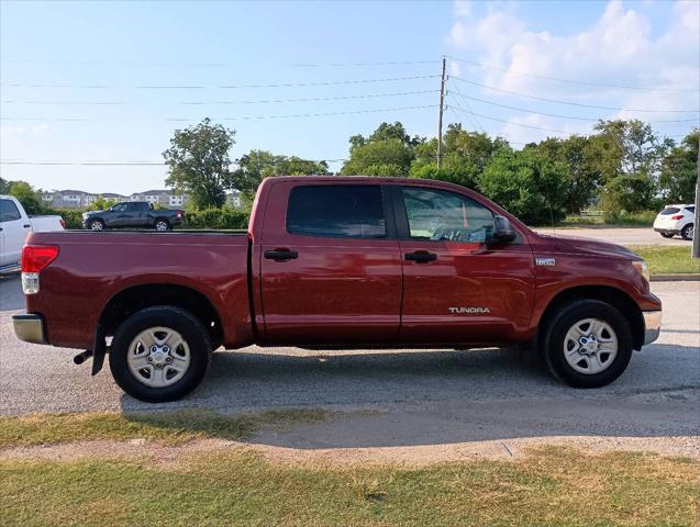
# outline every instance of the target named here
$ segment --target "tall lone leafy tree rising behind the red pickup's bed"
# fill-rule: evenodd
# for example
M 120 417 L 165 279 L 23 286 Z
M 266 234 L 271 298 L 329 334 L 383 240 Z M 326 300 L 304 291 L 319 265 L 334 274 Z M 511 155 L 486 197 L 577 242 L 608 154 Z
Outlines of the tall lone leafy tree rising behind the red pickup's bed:
M 198 208 L 221 206 L 231 188 L 229 150 L 235 144 L 235 131 L 204 119 L 200 124 L 176 130 L 170 148 L 163 153 L 169 167 L 165 180 L 179 193 L 189 193 Z

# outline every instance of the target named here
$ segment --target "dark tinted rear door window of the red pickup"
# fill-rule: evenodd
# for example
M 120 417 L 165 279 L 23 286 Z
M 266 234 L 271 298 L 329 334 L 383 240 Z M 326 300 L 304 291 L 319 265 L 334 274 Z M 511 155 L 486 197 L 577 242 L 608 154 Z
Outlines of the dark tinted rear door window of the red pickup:
M 289 197 L 290 234 L 334 238 L 387 236 L 378 186 L 297 187 Z

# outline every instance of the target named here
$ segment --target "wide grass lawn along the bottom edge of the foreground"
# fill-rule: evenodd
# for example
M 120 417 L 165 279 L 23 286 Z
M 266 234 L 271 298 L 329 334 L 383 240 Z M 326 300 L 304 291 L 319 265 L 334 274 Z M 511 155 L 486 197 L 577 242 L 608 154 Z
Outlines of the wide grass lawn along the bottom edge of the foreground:
M 697 525 L 695 461 L 570 448 L 424 468 L 266 461 L 251 450 L 179 463 L 0 460 L 2 524 Z

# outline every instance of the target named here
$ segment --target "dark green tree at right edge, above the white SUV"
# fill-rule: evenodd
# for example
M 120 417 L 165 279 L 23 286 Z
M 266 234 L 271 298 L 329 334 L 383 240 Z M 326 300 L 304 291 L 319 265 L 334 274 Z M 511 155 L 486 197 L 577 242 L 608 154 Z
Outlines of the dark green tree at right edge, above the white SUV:
M 668 203 L 692 203 L 695 200 L 699 138 L 700 128 L 696 128 L 680 145 L 674 146 L 662 162 L 658 183 L 662 197 Z

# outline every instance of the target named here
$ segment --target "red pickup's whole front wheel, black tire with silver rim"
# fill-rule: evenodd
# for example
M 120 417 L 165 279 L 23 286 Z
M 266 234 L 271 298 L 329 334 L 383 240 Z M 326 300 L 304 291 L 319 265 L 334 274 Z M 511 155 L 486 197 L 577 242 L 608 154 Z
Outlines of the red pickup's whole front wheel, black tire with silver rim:
M 618 379 L 632 358 L 632 330 L 612 305 L 577 300 L 543 328 L 541 352 L 552 374 L 575 388 L 600 388 Z

